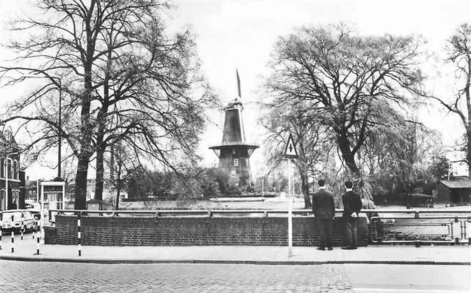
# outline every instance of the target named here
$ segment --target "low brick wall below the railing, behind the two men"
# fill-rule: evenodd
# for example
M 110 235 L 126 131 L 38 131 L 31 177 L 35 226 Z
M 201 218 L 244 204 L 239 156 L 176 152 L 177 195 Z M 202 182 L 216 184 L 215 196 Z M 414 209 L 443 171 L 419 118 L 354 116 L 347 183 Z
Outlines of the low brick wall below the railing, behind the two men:
M 317 246 L 313 217 L 293 218 L 293 245 Z M 56 216 L 45 242 L 77 244 L 77 217 Z M 98 246 L 287 246 L 287 218 L 97 217 L 82 216 L 82 244 Z M 335 218 L 334 245 L 343 243 L 342 218 Z M 359 218 L 358 245 L 368 244 L 366 218 Z

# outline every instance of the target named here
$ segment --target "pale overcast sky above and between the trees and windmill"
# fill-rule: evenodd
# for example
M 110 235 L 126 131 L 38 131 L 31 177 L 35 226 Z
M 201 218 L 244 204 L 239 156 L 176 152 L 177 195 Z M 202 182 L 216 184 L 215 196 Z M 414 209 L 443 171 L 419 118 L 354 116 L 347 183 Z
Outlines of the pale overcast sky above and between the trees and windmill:
M 31 1 L 0 0 L 0 20 L 10 20 L 15 15 L 28 11 Z M 198 53 L 201 57 L 205 77 L 222 100 L 237 94 L 235 68 L 240 73 L 242 100 L 245 105 L 245 133 L 247 140 L 258 142 L 263 130 L 256 126 L 259 106 L 254 103 L 263 98 L 259 87 L 261 76 L 266 74 L 266 63 L 273 51 L 277 36 L 290 33 L 294 27 L 346 22 L 361 35 L 419 34 L 428 40 L 430 52 L 443 54 L 447 38 L 463 22 L 471 22 L 471 1 L 352 1 L 352 0 L 175 0 L 177 8 L 171 12 L 169 31 L 177 31 L 190 25 L 197 36 Z M 10 36 L 1 27 L 0 36 Z M 2 57 L 10 52 L 0 50 Z M 4 58 L 2 58 L 4 59 Z M 435 68 L 440 72 L 440 67 Z M 430 74 L 430 89 L 436 93 L 447 93 L 451 86 L 447 80 L 434 79 Z M 20 89 L 0 90 L 0 105 L 22 93 Z M 428 107 L 419 118 L 439 130 L 446 144 L 458 139 L 461 127 L 458 119 L 437 108 Z M 208 150 L 222 138 L 223 114 L 212 113 L 212 121 L 203 135 L 200 152 L 203 163 L 217 163 L 217 157 Z M 450 131 L 450 129 L 454 129 Z M 263 163 L 263 149 L 252 156 L 252 169 L 256 173 Z M 36 178 L 37 168 L 27 170 Z M 90 172 L 94 174 L 94 172 Z M 42 171 L 41 176 L 45 174 Z M 54 170 L 50 171 L 51 176 Z M 47 175 L 46 175 L 47 176 Z

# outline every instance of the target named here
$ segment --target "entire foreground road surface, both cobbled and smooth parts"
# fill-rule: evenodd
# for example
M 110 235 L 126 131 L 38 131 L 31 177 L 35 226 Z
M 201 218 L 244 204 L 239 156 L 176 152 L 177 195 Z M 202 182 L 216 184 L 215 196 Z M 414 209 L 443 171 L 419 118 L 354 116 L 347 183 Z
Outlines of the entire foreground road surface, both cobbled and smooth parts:
M 470 292 L 470 266 L 77 264 L 0 260 L 1 292 Z

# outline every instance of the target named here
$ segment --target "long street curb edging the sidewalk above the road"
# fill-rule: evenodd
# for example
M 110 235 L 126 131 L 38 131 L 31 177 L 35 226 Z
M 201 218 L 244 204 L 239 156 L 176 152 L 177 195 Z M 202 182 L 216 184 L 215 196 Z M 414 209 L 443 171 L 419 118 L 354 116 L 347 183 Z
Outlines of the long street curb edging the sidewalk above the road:
M 19 262 L 71 262 L 83 264 L 258 264 L 258 265 L 297 265 L 310 266 L 317 264 L 425 264 L 425 265 L 463 265 L 471 262 L 435 262 L 408 260 L 329 260 L 329 261 L 270 261 L 270 260 L 126 260 L 101 258 L 61 258 L 61 257 L 20 257 L 0 255 L 0 260 Z

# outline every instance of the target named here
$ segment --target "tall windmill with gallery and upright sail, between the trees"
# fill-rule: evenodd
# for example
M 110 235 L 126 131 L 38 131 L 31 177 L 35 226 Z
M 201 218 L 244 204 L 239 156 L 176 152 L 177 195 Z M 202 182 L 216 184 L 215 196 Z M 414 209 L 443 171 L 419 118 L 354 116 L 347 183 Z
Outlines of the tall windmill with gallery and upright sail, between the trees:
M 221 144 L 210 147 L 219 157 L 219 170 L 229 177 L 229 186 L 238 186 L 242 190 L 251 185 L 249 158 L 259 146 L 245 141 L 242 120 L 242 100 L 240 98 L 240 79 L 237 75 L 238 97 L 224 107 L 224 130 Z

